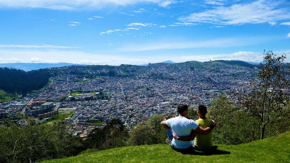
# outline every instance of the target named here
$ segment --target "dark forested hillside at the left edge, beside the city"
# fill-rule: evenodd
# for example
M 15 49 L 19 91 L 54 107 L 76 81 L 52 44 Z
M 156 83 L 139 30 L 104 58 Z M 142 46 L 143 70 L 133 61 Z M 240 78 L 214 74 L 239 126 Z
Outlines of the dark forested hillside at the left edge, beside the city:
M 50 78 L 44 69 L 25 72 L 20 69 L 0 68 L 0 89 L 8 93 L 27 92 L 43 88 Z

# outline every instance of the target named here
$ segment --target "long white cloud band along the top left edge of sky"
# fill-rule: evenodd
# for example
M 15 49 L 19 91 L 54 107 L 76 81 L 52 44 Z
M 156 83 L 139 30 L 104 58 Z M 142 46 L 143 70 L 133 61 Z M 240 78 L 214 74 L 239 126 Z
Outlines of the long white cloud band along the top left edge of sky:
M 52 10 L 101 9 L 112 5 L 126 6 L 137 3 L 153 3 L 168 8 L 176 0 L 0 0 L 0 7 L 8 8 L 47 8 Z

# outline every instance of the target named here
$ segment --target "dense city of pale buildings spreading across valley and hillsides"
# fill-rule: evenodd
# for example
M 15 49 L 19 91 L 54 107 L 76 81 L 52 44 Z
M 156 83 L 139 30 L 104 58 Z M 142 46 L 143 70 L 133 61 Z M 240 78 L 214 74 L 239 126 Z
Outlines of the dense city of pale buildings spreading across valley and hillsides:
M 239 106 L 240 94 L 251 90 L 249 83 L 259 71 L 254 65 L 233 66 L 216 61 L 123 66 L 126 67 L 123 71 L 122 66 L 114 67 L 122 77 L 100 76 L 110 70 L 94 69 L 93 65 L 49 68 L 60 75 L 50 78 L 46 89 L 2 102 L 0 111 L 28 115 L 38 123 L 56 114 L 73 112 L 66 120 L 74 134 L 85 139 L 93 128 L 102 128 L 113 118 L 121 119 L 131 129 L 155 114 L 165 117 L 176 114 L 175 106 L 179 103 L 190 107 L 210 106 L 219 94 L 226 94 L 233 104 Z M 139 72 L 132 70 L 138 68 Z M 74 75 L 74 69 L 84 73 Z M 124 77 L 128 69 L 134 73 Z M 142 72 L 142 69 L 146 71 Z M 20 118 L 16 123 L 25 125 L 26 122 Z

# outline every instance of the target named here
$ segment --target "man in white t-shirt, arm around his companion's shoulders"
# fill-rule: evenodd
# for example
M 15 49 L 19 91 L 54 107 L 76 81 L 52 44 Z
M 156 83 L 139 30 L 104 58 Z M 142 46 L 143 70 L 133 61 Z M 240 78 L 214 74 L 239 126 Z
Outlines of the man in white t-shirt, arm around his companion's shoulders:
M 202 128 L 194 120 L 187 119 L 188 106 L 186 104 L 179 104 L 177 112 L 179 113 L 178 117 L 163 120 L 161 122 L 168 137 L 168 143 L 172 149 L 188 149 L 194 147 L 194 141 L 192 141 L 194 137 L 192 138 L 190 135 L 194 135 L 195 132 L 206 135 L 214 128 L 214 122 L 212 122 L 210 127 Z M 178 135 L 176 138 L 173 138 L 173 132 Z M 182 140 L 180 140 L 181 137 L 179 136 L 183 137 Z

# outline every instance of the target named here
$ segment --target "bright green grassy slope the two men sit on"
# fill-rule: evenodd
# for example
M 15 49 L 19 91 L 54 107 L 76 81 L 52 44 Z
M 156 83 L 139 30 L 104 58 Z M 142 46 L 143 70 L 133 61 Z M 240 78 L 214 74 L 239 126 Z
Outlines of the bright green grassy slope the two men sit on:
M 240 145 L 218 145 L 212 153 L 174 151 L 166 144 L 128 146 L 43 162 L 290 162 L 290 132 Z

